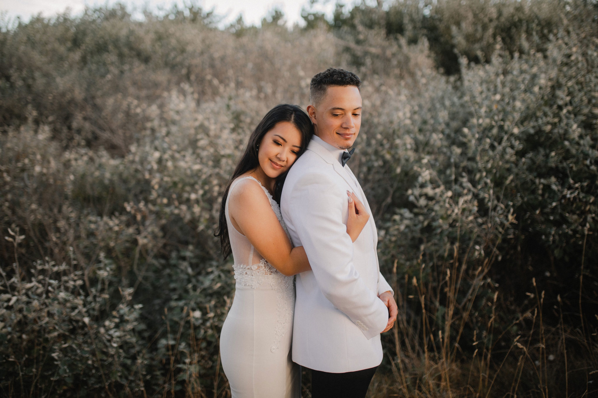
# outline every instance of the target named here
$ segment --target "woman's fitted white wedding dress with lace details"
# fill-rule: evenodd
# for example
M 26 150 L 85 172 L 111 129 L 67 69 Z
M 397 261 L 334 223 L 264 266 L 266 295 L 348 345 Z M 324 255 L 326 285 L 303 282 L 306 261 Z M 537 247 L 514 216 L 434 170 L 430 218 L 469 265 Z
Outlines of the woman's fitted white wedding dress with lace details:
M 246 179 L 260 184 L 253 177 L 237 178 L 230 186 L 228 198 L 237 184 Z M 289 235 L 278 203 L 262 188 Z M 234 228 L 228 215 L 228 198 L 225 215 L 236 291 L 220 335 L 224 374 L 233 398 L 299 398 L 301 371 L 291 360 L 294 276 L 284 276 L 277 271 L 254 250 L 249 239 Z

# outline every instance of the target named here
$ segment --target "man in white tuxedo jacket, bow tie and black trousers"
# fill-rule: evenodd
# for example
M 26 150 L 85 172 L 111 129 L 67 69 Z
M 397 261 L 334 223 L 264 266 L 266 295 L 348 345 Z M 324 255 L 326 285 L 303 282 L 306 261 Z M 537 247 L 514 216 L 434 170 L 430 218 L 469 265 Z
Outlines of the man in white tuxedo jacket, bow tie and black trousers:
M 361 81 L 329 68 L 310 85 L 315 136 L 289 171 L 280 199 L 295 246 L 312 271 L 297 275 L 292 359 L 312 369 L 312 397 L 365 397 L 382 362 L 380 333 L 396 319 L 393 292 L 380 274 L 373 217 L 354 243 L 346 233 L 347 191 L 371 215 L 345 163 L 361 126 Z

